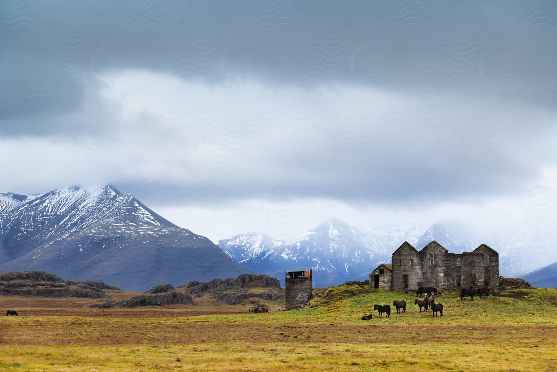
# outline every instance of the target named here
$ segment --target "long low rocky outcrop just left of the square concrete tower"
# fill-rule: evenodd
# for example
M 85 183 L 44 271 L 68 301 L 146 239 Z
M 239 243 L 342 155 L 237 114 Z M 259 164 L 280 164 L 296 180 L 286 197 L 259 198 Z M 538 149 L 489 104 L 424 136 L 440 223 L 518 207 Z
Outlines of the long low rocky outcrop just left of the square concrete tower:
M 179 287 L 184 287 L 184 285 Z M 204 283 L 192 281 L 187 284 L 186 288 L 190 288 L 190 294 L 196 294 L 224 292 L 227 289 L 247 287 L 280 288 L 280 282 L 277 278 L 271 278 L 265 274 L 242 274 L 236 278 L 213 279 Z

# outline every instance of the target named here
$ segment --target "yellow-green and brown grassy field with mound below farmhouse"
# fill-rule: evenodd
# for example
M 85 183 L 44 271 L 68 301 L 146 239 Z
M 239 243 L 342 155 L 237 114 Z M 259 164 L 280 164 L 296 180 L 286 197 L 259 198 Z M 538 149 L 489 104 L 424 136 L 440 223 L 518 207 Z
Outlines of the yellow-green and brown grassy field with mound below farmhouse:
M 557 289 L 473 302 L 445 292 L 437 318 L 414 298 L 354 285 L 320 291 L 304 310 L 264 314 L 26 309 L 0 317 L 0 370 L 557 371 Z M 361 320 L 393 299 L 407 312 Z

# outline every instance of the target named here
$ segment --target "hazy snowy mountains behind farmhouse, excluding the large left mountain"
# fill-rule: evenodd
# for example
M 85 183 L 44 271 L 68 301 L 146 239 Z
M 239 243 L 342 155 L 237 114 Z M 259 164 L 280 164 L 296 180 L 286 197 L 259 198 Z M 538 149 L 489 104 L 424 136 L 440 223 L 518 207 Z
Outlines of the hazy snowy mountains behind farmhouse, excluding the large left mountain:
M 291 240 L 275 240 L 252 232 L 220 240 L 217 244 L 247 268 L 276 276 L 281 283 L 284 283 L 285 270 L 311 268 L 314 286 L 324 287 L 367 279 L 378 264 L 391 262 L 392 253 L 404 241 L 420 250 L 432 240 L 452 253 L 472 252 L 485 243 L 499 252 L 500 273 L 504 276 L 540 265 L 539 257 L 529 254 L 529 240 L 512 235 L 502 239 L 478 236 L 454 221 L 439 221 L 420 233 L 400 228 L 364 231 L 333 219 Z

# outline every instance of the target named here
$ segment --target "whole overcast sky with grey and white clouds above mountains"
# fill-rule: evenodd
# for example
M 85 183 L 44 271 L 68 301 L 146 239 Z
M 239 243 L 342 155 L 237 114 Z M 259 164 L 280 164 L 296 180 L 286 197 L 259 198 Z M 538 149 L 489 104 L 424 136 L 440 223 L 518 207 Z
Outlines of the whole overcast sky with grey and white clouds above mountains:
M 456 219 L 555 246 L 557 1 L 0 2 L 0 191 L 213 240 Z

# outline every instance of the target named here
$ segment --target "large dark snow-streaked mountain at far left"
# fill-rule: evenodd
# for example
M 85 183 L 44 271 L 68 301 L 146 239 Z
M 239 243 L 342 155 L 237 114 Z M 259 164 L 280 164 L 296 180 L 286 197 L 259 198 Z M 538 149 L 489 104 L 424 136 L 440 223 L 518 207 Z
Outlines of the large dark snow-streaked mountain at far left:
M 0 194 L 0 270 L 28 269 L 138 291 L 249 271 L 111 185 Z

